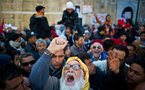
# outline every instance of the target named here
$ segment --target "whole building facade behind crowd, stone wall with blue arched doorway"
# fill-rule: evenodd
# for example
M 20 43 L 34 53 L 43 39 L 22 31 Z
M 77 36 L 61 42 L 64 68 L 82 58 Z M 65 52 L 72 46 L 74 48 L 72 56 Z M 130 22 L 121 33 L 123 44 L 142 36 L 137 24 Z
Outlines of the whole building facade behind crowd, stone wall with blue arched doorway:
M 122 17 L 131 19 L 133 23 L 145 22 L 145 0 L 0 0 L 0 20 L 4 18 L 5 23 L 29 28 L 29 19 L 35 13 L 35 7 L 43 5 L 51 25 L 61 20 L 67 1 L 80 6 L 83 24 L 90 24 L 90 14 L 82 13 L 84 5 L 91 6 L 93 13 L 110 14 L 114 23 Z

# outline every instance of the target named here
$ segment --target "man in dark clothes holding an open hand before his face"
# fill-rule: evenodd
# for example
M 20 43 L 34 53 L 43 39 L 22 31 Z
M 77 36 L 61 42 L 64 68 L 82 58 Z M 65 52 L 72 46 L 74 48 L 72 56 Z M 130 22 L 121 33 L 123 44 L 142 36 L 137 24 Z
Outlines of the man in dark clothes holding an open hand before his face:
M 117 45 L 108 52 L 107 60 L 93 62 L 105 73 L 105 88 L 107 90 L 127 90 L 126 74 L 128 67 L 125 59 L 128 49 L 123 45 Z

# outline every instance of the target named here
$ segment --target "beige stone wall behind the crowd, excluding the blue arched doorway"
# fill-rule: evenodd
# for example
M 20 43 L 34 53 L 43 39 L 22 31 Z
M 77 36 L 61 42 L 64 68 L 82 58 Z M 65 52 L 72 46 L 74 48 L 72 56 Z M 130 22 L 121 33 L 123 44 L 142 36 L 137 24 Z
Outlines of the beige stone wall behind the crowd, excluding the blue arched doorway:
M 83 5 L 92 5 L 95 13 L 109 13 L 112 22 L 116 22 L 118 17 L 117 2 L 122 0 L 0 0 L 0 20 L 4 18 L 5 23 L 29 28 L 29 19 L 35 13 L 35 7 L 43 5 L 46 7 L 46 17 L 51 25 L 51 23 L 61 20 L 62 11 L 67 1 L 79 5 L 81 10 Z M 144 4 L 140 6 L 143 10 Z M 138 18 L 145 18 L 144 12 L 139 12 L 139 15 Z M 89 15 L 84 14 L 82 16 L 84 23 L 90 24 Z

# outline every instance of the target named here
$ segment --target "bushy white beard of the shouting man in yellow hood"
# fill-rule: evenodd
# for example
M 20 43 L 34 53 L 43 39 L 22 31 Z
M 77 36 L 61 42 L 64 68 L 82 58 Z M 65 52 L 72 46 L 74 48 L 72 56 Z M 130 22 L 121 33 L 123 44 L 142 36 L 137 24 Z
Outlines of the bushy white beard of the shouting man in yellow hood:
M 85 85 L 85 80 L 81 76 L 78 80 L 75 80 L 74 86 L 67 86 L 65 84 L 64 76 L 60 78 L 60 90 L 81 90 Z

